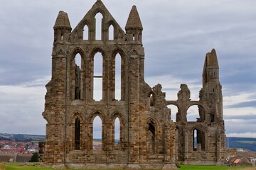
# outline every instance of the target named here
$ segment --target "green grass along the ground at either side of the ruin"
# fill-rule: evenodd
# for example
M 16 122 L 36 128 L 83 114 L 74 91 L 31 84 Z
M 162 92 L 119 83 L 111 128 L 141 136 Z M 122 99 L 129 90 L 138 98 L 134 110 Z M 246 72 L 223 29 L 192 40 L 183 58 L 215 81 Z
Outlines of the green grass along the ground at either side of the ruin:
M 39 164 L 28 163 L 26 165 L 20 163 L 7 163 L 6 165 L 0 163 L 0 170 L 47 170 L 52 168 L 40 167 Z M 252 170 L 256 168 L 245 166 L 199 166 L 199 165 L 181 165 L 179 170 Z M 55 169 L 58 170 L 58 169 Z M 68 170 L 68 169 L 66 169 Z M 82 169 L 76 169 L 82 170 Z M 85 170 L 85 169 L 83 169 Z M 88 169 L 87 169 L 88 170 Z M 94 169 L 95 170 L 95 169 Z

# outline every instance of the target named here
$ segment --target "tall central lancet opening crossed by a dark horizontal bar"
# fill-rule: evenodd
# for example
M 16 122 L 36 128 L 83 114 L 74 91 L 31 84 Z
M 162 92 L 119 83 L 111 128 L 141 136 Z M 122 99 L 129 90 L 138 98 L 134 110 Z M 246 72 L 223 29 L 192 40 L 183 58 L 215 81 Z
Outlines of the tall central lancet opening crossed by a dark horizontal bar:
M 101 53 L 97 52 L 94 56 L 93 67 L 93 98 L 95 101 L 102 100 L 102 60 Z

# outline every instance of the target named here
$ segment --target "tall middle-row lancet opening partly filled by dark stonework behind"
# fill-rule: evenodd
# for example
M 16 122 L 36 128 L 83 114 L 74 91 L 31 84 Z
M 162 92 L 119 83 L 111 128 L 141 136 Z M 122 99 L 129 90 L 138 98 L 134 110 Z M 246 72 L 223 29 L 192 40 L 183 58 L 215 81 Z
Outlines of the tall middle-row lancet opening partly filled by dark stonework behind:
M 82 72 L 82 57 L 78 53 L 75 55 L 75 99 L 81 98 L 81 72 Z

